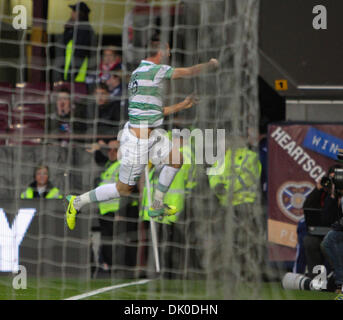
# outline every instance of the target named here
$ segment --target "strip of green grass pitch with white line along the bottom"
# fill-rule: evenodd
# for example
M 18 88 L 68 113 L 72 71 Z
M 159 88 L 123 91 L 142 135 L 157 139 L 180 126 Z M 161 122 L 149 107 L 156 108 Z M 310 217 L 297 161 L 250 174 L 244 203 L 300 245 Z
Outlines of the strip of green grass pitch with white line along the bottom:
M 218 296 L 204 296 L 205 281 L 193 280 L 151 280 L 149 283 L 140 283 L 141 280 L 91 280 L 89 283 L 80 285 L 79 281 L 65 280 L 64 284 L 59 279 L 28 279 L 27 289 L 15 290 L 12 288 L 11 277 L 0 277 L 0 299 L 1 300 L 61 300 L 82 295 L 82 300 L 213 300 L 219 299 L 220 286 L 218 285 Z M 148 286 L 149 284 L 149 286 Z M 124 286 L 123 286 L 124 285 Z M 151 286 L 155 288 L 152 293 Z M 113 287 L 103 293 L 91 294 L 98 289 Z M 192 287 L 194 291 L 185 296 L 185 287 Z M 39 289 L 39 290 L 38 290 Z M 189 290 L 187 290 L 189 292 Z M 293 291 L 284 290 L 280 283 L 263 283 L 261 300 L 333 300 L 335 293 Z M 77 298 L 79 299 L 79 298 Z M 249 299 L 249 292 L 242 288 L 239 290 L 237 299 Z

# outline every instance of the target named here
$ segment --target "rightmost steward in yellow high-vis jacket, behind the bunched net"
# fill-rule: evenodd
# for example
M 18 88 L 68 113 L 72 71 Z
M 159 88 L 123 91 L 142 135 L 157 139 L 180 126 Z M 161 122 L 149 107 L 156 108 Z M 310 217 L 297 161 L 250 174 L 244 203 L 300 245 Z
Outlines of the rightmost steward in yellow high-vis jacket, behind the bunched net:
M 220 204 L 214 211 L 217 221 L 212 227 L 221 237 L 226 233 L 223 226 L 230 223 L 231 241 L 225 246 L 227 250 L 233 250 L 234 261 L 239 265 L 237 279 L 252 277 L 251 261 L 256 264 L 256 270 L 262 270 L 264 265 L 261 258 L 264 248 L 258 242 L 264 239 L 264 221 L 258 211 L 261 170 L 258 153 L 238 146 L 228 149 L 223 163 L 216 162 L 208 176 L 210 187 Z M 211 262 L 218 263 L 216 248 L 211 254 Z

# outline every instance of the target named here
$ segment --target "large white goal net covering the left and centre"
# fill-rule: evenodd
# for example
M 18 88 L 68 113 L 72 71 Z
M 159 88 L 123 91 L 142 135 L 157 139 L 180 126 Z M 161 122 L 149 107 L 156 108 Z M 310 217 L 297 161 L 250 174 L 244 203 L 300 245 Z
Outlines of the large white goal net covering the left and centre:
M 85 2 L 94 34 L 87 39 L 86 21 L 69 22 L 74 48 L 65 39 L 71 2 L 0 3 L 3 292 L 13 299 L 22 294 L 14 286 L 20 285 L 16 277 L 24 267 L 25 292 L 33 299 L 260 298 L 266 219 L 256 149 L 259 1 Z M 27 29 L 13 27 L 17 5 L 26 8 Z M 104 159 L 109 160 L 115 150 L 110 141 L 127 121 L 130 74 L 146 57 L 153 37 L 170 44 L 174 67 L 211 58 L 220 63 L 214 71 L 166 84 L 164 105 L 191 93 L 199 98 L 193 108 L 167 117 L 163 126 L 190 133 L 182 135 L 189 160 L 178 179 L 182 183 L 168 191 L 168 201 L 176 201 L 180 212 L 155 219 L 156 233 L 151 233 L 144 215 L 146 190 L 154 188 L 159 168 L 150 168 L 149 182 L 142 177 L 132 196 L 85 207 L 70 231 L 60 198 L 115 178 Z M 113 60 L 106 65 L 106 59 Z M 110 88 L 110 100 L 100 81 Z M 116 81 L 122 83 L 121 94 L 115 93 Z M 63 99 L 71 101 L 70 113 L 57 101 Z M 114 101 L 114 115 L 101 109 L 101 99 Z M 104 141 L 100 147 L 99 140 Z M 247 150 L 256 152 L 247 155 Z M 254 155 L 255 163 L 245 161 L 255 171 L 246 172 L 244 163 L 234 169 Z M 219 170 L 224 164 L 226 169 Z M 50 184 L 44 189 L 37 181 L 47 174 Z M 243 174 L 249 175 L 248 184 Z M 104 292 L 93 295 L 99 288 Z

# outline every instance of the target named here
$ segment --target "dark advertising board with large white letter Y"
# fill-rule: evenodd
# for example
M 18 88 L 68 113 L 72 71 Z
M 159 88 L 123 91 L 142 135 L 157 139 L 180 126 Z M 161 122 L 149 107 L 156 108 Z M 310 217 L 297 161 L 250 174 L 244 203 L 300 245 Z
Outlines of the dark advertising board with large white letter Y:
M 87 276 L 89 219 L 81 217 L 71 234 L 64 222 L 62 200 L 0 199 L 0 274 Z

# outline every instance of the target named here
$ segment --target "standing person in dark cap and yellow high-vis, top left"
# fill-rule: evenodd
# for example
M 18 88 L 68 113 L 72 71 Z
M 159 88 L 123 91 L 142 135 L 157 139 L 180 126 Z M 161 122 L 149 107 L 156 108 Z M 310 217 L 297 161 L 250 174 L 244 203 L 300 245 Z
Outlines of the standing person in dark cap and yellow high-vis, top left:
M 71 17 L 64 26 L 63 74 L 58 80 L 85 82 L 89 69 L 94 31 L 89 24 L 90 9 L 84 2 L 69 5 Z

